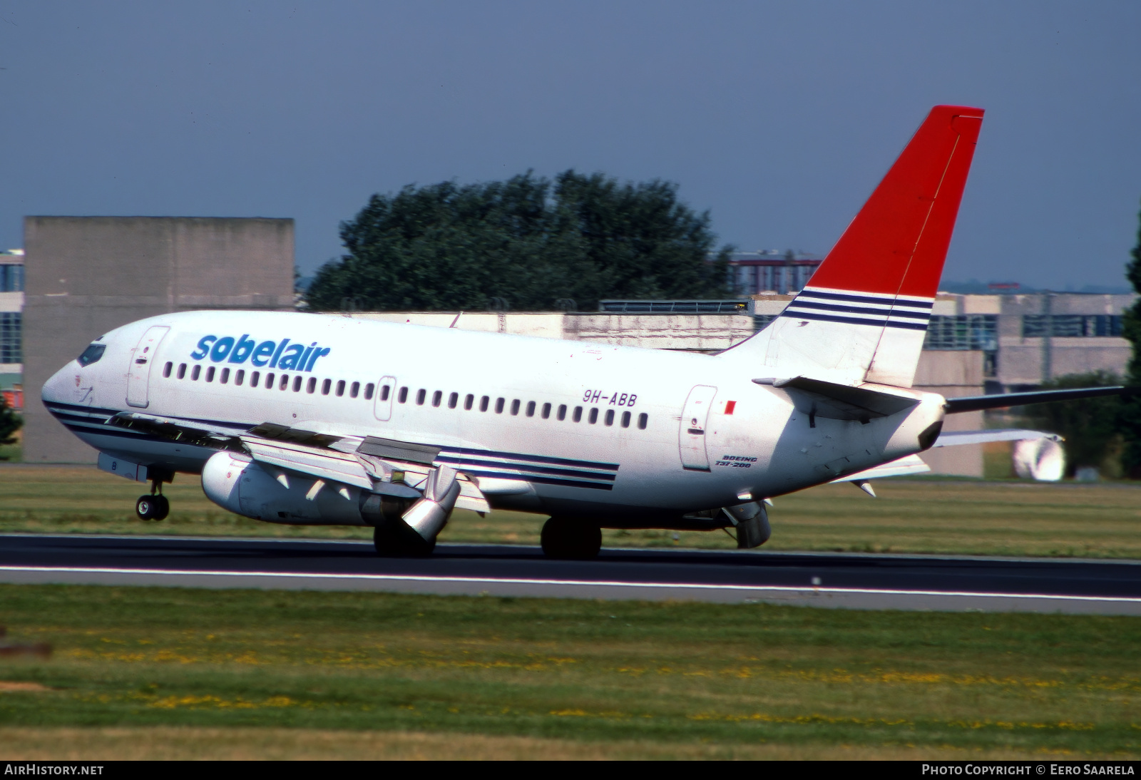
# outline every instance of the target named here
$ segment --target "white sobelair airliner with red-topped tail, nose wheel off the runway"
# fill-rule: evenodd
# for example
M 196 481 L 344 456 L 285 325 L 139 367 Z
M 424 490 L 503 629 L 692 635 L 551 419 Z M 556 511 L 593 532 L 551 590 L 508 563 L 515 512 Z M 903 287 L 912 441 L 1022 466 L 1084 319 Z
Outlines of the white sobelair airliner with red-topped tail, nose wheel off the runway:
M 351 316 L 192 311 L 96 339 L 43 403 L 152 484 L 201 473 L 211 501 L 294 525 L 372 526 L 381 554 L 426 554 L 454 507 L 550 515 L 547 554 L 590 558 L 600 528 L 736 528 L 764 501 L 925 471 L 944 415 L 1100 388 L 945 399 L 912 381 L 982 111 L 937 106 L 808 286 L 719 355 L 608 347 Z M 871 488 L 866 488 L 871 491 Z

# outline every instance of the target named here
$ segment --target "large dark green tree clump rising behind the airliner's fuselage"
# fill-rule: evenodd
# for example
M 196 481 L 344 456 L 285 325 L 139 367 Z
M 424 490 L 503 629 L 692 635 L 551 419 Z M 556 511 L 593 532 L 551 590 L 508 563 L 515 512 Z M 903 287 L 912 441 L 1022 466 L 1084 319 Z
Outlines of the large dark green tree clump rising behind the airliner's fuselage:
M 620 184 L 566 171 L 507 181 L 444 181 L 373 195 L 341 224 L 347 254 L 317 271 L 316 310 L 582 308 L 600 298 L 720 298 L 725 246 L 709 212 L 697 214 L 663 181 Z

